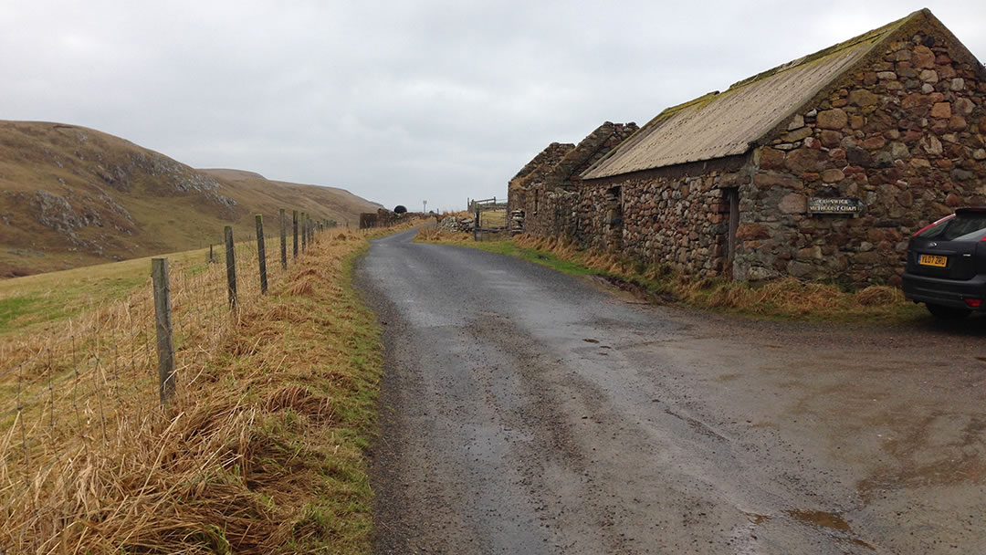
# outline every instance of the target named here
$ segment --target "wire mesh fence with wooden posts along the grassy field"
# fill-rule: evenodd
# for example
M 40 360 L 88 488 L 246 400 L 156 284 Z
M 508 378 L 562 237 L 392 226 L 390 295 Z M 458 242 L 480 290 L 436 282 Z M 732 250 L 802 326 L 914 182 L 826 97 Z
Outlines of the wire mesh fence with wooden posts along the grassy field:
M 89 450 L 125 442 L 135 427 L 163 419 L 165 381 L 176 382 L 178 394 L 195 382 L 189 369 L 204 368 L 215 355 L 231 314 L 255 303 L 266 284 L 281 281 L 317 232 L 331 224 L 303 215 L 296 227 L 283 213 L 281 221 L 283 228 L 276 222 L 261 234 L 257 218 L 257 229 L 235 238 L 240 241 L 233 243 L 232 253 L 210 246 L 200 261 L 170 268 L 166 289 L 174 370 L 166 376 L 159 372 L 162 314 L 156 313 L 155 297 L 160 309 L 163 292 L 150 278 L 126 299 L 74 317 L 55 334 L 19 336 L 4 345 L 0 554 L 12 553 L 11 546 L 18 552 L 54 552 L 50 546 L 58 545 L 66 516 L 51 514 L 44 499 L 59 488 L 66 495 L 82 495 L 75 492 L 83 471 L 78 461 Z M 230 270 L 235 270 L 235 282 L 229 281 Z

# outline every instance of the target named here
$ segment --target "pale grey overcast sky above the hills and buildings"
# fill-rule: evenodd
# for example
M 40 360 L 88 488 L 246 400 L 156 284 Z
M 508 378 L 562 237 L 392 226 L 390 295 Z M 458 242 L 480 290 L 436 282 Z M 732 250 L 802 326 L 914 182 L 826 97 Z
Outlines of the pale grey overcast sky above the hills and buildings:
M 923 7 L 986 60 L 983 0 L 0 2 L 0 119 L 412 209 Z

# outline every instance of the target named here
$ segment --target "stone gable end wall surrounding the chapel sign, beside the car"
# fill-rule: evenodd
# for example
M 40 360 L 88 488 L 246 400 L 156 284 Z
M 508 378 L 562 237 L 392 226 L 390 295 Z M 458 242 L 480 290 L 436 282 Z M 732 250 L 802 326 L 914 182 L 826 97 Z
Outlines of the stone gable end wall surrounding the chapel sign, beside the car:
M 978 64 L 917 33 L 790 117 L 740 187 L 736 277 L 899 284 L 907 243 L 954 208 L 986 204 L 986 82 Z M 809 215 L 855 197 L 858 216 Z

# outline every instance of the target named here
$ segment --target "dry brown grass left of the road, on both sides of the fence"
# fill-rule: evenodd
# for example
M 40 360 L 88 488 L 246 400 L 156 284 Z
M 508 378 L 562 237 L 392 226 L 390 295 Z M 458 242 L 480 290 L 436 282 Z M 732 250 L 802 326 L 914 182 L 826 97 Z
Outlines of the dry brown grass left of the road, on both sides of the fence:
M 321 234 L 265 297 L 241 277 L 234 314 L 221 265 L 173 269 L 166 409 L 146 291 L 5 340 L 0 551 L 368 551 L 379 339 L 347 261 L 369 236 Z

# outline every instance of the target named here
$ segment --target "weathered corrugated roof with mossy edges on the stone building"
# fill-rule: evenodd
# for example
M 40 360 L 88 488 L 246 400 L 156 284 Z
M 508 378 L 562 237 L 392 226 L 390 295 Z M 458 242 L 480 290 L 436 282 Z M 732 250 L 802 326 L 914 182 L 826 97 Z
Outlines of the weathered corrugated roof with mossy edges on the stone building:
M 863 58 L 880 39 L 921 12 L 866 35 L 670 107 L 583 174 L 594 179 L 745 153 L 750 143 Z

